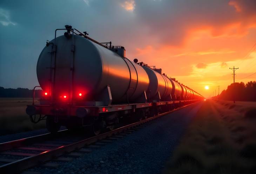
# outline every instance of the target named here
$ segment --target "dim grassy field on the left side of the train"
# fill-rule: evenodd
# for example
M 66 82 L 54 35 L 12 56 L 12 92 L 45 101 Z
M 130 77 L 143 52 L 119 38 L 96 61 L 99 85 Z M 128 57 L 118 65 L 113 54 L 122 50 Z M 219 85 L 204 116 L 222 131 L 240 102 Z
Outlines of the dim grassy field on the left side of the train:
M 44 120 L 37 124 L 29 120 L 26 107 L 31 104 L 32 98 L 0 98 L 0 135 L 45 128 Z

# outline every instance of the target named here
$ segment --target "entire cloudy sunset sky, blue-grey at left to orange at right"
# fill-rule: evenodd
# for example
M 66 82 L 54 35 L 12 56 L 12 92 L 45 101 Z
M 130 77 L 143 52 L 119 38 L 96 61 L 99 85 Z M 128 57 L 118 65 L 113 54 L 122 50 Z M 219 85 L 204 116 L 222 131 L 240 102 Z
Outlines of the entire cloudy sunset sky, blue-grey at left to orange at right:
M 236 82 L 256 79 L 255 9 L 255 0 L 1 0 L 0 86 L 38 85 L 46 40 L 69 24 L 210 97 L 233 83 L 234 66 Z

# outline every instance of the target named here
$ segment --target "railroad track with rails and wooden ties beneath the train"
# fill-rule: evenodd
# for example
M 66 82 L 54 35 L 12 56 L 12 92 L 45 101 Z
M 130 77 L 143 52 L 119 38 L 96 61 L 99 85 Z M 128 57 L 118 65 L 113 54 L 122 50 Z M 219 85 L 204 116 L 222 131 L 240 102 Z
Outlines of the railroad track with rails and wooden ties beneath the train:
M 80 157 L 83 153 L 89 153 L 93 148 L 147 126 L 150 124 L 149 122 L 160 116 L 186 106 L 89 138 L 74 136 L 71 131 L 62 130 L 55 135 L 49 133 L 0 143 L 0 173 L 16 173 L 36 165 L 54 167 L 57 165 L 56 163 L 46 163 L 46 161 L 70 161 L 72 158 Z M 60 157 L 62 155 L 71 158 Z

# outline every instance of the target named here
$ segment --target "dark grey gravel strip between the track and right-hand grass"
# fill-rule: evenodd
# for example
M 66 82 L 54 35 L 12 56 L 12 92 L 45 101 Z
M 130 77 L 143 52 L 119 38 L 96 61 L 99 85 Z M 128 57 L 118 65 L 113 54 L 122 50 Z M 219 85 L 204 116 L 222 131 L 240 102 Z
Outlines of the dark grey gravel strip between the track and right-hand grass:
M 58 168 L 34 167 L 27 171 L 41 173 L 161 173 L 166 161 L 202 102 L 162 116 L 123 138 L 113 140 L 71 162 L 56 162 Z

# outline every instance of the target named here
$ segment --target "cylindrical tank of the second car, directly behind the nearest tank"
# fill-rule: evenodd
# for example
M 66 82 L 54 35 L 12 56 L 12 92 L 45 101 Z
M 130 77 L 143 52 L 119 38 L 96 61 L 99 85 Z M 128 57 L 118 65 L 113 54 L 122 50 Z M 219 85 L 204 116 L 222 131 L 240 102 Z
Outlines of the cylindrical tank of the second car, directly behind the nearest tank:
M 164 101 L 168 96 L 170 96 L 172 91 L 171 82 L 168 78 L 157 71 L 151 69 L 147 66 L 142 66 L 144 70 L 147 72 L 149 77 L 149 88 L 147 91 L 147 97 L 149 100 L 157 100 L 159 99 L 158 92 L 161 97 L 161 101 Z

